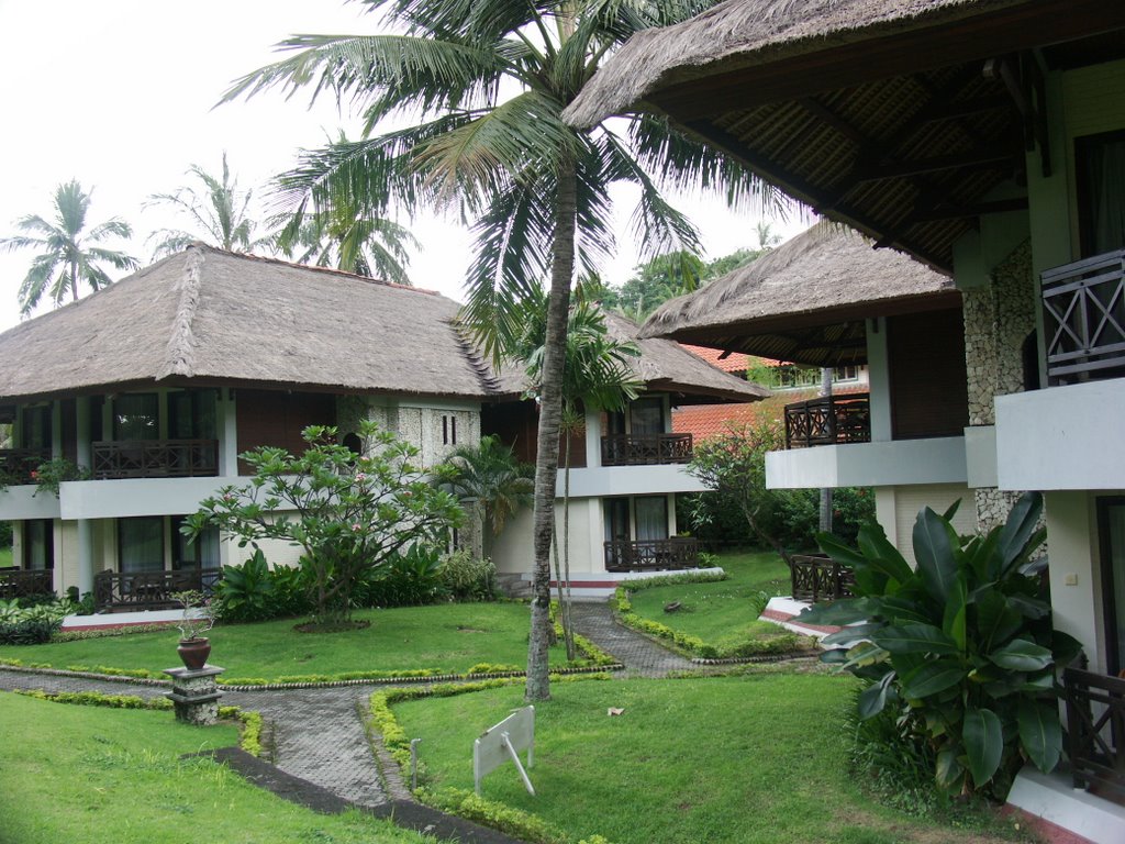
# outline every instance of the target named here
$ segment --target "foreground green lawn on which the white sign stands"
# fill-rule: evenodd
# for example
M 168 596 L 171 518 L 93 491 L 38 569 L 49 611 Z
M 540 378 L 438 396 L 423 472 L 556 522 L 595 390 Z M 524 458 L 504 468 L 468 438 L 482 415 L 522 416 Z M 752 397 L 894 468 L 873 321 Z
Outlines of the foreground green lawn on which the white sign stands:
M 614 844 L 953 844 L 990 842 L 881 807 L 846 770 L 848 677 L 748 673 L 698 680 L 558 683 L 536 707 L 537 796 L 514 766 L 488 774 L 486 799 L 572 841 Z M 472 740 L 522 704 L 522 688 L 397 703 L 422 739 L 428 785 L 472 789 Z M 609 717 L 608 709 L 624 710 Z

